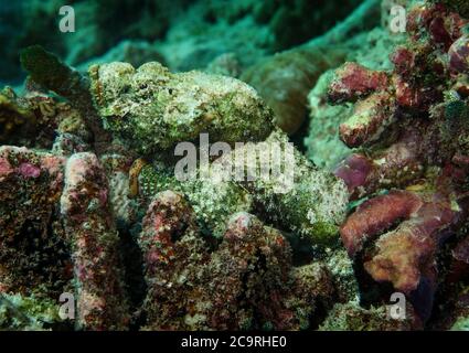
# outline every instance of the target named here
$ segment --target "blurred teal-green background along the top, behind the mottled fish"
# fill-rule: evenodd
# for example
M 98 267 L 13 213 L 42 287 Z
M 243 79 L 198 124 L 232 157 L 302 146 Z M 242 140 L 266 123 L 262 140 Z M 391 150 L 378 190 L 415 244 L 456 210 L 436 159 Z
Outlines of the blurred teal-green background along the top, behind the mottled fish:
M 158 60 L 173 71 L 204 68 L 222 54 L 243 67 L 302 44 L 342 20 L 360 1 L 2 1 L 0 79 L 24 78 L 20 49 L 41 44 L 67 64 L 132 57 Z M 63 6 L 72 6 L 75 32 L 58 29 Z M 127 53 L 127 54 L 125 54 Z

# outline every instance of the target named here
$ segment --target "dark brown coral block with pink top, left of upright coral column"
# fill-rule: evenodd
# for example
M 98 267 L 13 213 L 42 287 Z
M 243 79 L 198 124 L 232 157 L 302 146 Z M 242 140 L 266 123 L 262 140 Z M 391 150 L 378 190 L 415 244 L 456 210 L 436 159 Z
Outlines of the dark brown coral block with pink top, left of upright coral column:
M 46 292 L 58 290 L 65 286 L 67 274 L 56 269 L 55 264 L 65 268 L 70 261 L 53 254 L 54 249 L 67 253 L 56 214 L 64 160 L 18 147 L 1 147 L 0 156 L 0 288 L 2 292 L 34 291 L 40 287 L 46 288 Z

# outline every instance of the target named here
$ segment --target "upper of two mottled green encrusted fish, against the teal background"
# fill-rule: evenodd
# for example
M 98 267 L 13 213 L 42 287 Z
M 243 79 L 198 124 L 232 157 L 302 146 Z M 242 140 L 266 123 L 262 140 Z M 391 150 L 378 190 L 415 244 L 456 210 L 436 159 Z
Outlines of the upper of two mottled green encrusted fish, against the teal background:
M 264 140 L 271 110 L 246 84 L 201 72 L 172 74 L 159 63 L 89 68 L 92 94 L 105 127 L 152 156 L 209 132 L 213 141 Z

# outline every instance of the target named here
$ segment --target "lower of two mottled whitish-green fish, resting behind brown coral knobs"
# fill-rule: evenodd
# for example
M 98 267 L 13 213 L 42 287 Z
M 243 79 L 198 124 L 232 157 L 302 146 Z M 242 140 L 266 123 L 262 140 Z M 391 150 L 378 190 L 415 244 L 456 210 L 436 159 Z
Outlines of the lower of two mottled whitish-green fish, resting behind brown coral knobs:
M 162 172 L 159 164 L 147 165 L 139 182 L 140 197 L 151 197 L 168 188 L 183 192 L 199 221 L 218 237 L 233 213 L 251 212 L 280 228 L 311 239 L 320 247 L 331 244 L 337 239 L 348 203 L 347 188 L 341 180 L 318 170 L 294 148 L 291 179 L 287 174 L 285 180 L 281 175 L 263 180 L 258 164 L 236 159 L 236 156 L 257 153 L 258 160 L 266 161 L 270 158 L 269 146 L 278 143 L 286 151 L 287 142 L 285 133 L 275 131 L 266 141 L 246 143 L 213 161 L 210 178 L 182 183 L 175 180 L 172 165 L 167 167 L 167 172 Z M 234 180 L 232 170 L 239 167 L 246 176 Z M 200 174 L 201 170 L 198 170 Z M 249 181 L 247 175 L 255 178 Z

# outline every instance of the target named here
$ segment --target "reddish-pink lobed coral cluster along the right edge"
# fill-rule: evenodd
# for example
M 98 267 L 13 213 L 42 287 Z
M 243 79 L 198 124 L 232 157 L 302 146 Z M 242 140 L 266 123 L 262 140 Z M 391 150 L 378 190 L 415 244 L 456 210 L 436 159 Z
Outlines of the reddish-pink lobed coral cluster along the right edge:
M 423 321 L 440 281 L 437 256 L 468 217 L 466 24 L 441 3 L 417 4 L 393 71 L 345 63 L 328 92 L 332 104 L 354 103 L 339 135 L 360 148 L 335 174 L 352 199 L 370 197 L 342 225 L 342 240 L 374 280 L 407 295 Z

